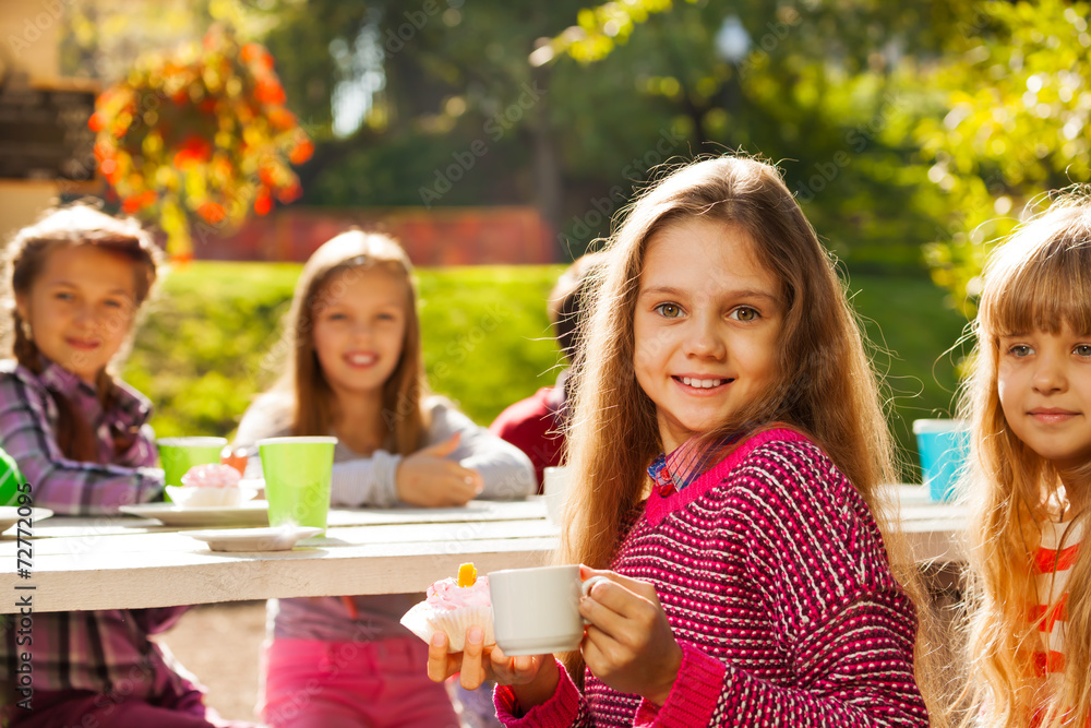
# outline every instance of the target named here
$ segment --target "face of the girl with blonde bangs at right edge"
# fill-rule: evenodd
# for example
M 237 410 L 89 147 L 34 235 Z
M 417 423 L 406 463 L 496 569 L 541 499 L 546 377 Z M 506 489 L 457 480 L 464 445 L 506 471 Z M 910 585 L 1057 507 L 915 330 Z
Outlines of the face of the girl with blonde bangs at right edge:
M 1067 470 L 1091 461 L 1091 336 L 1065 326 L 1000 337 L 997 389 L 1011 432 Z

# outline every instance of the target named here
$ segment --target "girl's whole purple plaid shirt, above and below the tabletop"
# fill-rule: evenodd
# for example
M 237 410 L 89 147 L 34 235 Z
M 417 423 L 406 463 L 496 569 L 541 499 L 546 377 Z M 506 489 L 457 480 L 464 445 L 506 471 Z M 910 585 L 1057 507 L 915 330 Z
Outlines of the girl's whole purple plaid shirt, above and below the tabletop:
M 63 393 L 92 422 L 99 465 L 72 461 L 53 434 L 57 406 L 49 391 Z M 104 411 L 93 387 L 46 362 L 40 375 L 14 361 L 0 362 L 0 446 L 15 458 L 31 484 L 34 504 L 59 514 L 107 515 L 118 506 L 151 500 L 163 490 L 163 472 L 147 419 L 148 401 L 119 384 Z M 115 433 L 134 435 L 122 453 Z M 35 613 L 31 644 L 14 644 L 11 618 L 0 620 L 0 703 L 11 690 L 17 654 L 31 654 L 35 691 L 91 690 L 153 699 L 191 689 L 169 654 L 147 639 L 178 621 L 188 607 Z

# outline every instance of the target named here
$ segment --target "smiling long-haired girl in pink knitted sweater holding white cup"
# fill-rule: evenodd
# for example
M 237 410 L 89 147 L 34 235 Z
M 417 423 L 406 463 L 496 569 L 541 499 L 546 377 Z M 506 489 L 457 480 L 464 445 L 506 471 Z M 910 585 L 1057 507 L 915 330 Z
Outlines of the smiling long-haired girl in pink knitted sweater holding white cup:
M 507 683 L 509 726 L 926 726 L 875 378 L 777 170 L 683 167 L 606 255 L 560 553 L 608 580 L 579 654 L 482 657 L 470 629 L 460 655 L 433 641 L 432 678 Z

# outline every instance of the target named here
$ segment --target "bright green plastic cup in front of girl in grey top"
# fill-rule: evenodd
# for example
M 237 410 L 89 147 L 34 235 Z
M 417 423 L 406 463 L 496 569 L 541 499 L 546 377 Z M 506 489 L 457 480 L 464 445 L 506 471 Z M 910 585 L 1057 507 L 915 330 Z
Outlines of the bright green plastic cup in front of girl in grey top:
M 337 438 L 267 438 L 257 441 L 271 526 L 325 529 Z

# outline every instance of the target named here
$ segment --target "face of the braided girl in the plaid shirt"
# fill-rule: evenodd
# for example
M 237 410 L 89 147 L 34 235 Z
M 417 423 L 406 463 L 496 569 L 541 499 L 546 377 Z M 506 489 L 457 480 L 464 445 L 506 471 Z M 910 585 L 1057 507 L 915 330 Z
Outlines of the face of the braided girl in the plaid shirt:
M 31 290 L 15 297 L 38 350 L 94 384 L 132 329 L 133 263 L 95 246 L 60 248 L 46 258 Z

